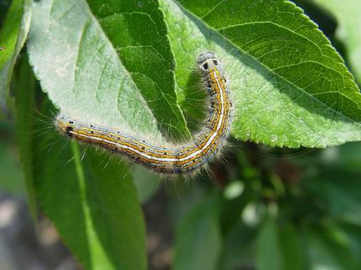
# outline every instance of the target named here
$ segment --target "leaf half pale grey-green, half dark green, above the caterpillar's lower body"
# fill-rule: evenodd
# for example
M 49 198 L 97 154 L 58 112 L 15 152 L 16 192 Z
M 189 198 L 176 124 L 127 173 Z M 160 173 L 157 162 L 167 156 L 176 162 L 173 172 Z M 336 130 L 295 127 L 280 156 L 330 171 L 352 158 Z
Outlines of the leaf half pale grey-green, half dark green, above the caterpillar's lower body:
M 55 0 L 33 8 L 30 62 L 63 113 L 157 141 L 188 135 L 157 1 Z

